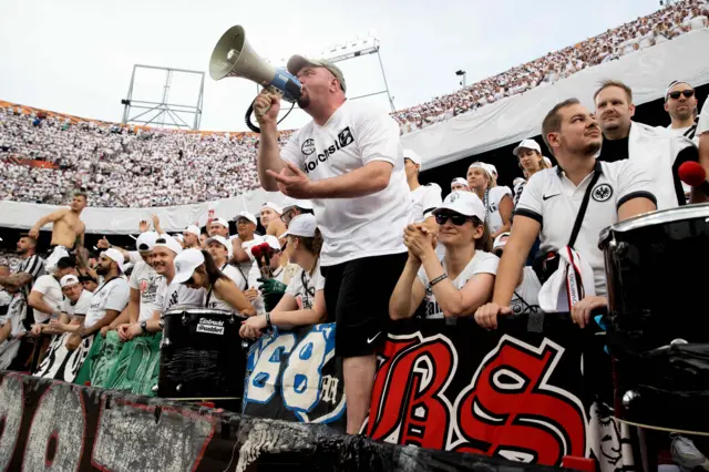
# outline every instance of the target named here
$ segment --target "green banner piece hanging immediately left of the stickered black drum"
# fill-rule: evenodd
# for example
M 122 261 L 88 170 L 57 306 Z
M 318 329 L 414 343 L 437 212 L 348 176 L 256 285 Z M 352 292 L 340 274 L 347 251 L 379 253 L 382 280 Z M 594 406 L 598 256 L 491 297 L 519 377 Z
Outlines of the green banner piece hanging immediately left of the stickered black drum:
M 163 334 L 141 336 L 123 343 L 106 379 L 105 388 L 155 397 L 160 373 L 160 342 Z

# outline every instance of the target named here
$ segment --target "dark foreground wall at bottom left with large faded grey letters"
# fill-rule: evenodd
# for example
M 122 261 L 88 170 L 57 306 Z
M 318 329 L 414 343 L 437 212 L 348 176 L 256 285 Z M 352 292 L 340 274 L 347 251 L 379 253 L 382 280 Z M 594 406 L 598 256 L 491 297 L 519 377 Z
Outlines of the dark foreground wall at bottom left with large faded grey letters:
M 0 372 L 0 470 L 552 472 Z

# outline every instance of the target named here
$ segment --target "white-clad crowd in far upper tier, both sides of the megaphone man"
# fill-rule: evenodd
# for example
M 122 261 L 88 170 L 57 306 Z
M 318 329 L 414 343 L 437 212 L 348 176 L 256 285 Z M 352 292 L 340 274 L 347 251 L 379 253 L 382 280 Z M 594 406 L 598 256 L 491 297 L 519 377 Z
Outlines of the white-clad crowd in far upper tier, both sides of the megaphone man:
M 682 0 L 393 114 L 402 133 L 564 79 L 576 71 L 706 28 L 709 2 Z M 291 132 L 284 131 L 280 144 Z M 61 204 L 83 188 L 93 206 L 151 207 L 228 198 L 259 186 L 251 133 L 123 127 L 0 109 L 0 199 Z M 23 165 L 19 158 L 55 168 Z M 218 172 L 217 172 L 218 171 Z

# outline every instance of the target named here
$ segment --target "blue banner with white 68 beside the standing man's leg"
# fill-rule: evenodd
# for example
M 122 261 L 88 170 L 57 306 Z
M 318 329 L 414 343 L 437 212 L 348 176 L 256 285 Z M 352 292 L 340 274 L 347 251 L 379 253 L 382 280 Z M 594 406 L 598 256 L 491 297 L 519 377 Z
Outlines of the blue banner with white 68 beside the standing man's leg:
M 274 330 L 249 350 L 244 413 L 329 424 L 345 431 L 342 360 L 335 357 L 335 324 Z

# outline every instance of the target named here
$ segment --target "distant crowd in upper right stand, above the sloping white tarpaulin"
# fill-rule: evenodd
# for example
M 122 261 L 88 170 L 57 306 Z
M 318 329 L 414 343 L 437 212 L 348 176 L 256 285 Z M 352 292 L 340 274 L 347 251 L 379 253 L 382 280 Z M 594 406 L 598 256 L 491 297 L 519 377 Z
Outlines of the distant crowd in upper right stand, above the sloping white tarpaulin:
M 650 48 L 708 24 L 709 2 L 674 2 L 653 14 L 640 17 L 561 51 L 549 52 L 543 58 L 466 85 L 454 93 L 400 110 L 394 113 L 394 119 L 401 125 L 402 133 L 421 130 L 536 86 L 553 84 L 586 68 Z

